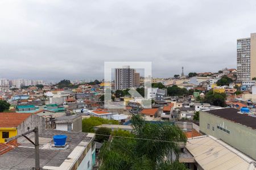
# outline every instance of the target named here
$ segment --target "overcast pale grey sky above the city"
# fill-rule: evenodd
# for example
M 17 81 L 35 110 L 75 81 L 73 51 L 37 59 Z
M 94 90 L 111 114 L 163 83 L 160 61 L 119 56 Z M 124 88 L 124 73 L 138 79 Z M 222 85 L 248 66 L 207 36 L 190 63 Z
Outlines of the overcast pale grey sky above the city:
M 256 1 L 0 1 L 0 78 L 104 78 L 104 61 L 151 61 L 154 77 L 236 67 Z

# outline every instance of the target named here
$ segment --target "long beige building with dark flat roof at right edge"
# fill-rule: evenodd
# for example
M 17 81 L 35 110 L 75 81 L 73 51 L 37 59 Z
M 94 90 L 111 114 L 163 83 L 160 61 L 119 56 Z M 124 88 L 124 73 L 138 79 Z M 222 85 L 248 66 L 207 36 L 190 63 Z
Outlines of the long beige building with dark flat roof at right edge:
M 233 146 L 256 159 L 256 117 L 234 108 L 200 111 L 200 131 Z

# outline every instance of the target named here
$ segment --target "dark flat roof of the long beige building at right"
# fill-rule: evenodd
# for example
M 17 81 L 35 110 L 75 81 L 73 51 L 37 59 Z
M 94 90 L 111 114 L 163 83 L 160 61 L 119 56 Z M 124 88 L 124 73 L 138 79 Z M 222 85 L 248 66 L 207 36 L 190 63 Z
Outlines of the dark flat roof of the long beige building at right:
M 252 129 L 256 129 L 256 117 L 247 116 L 246 114 L 237 113 L 238 109 L 234 108 L 221 108 L 214 110 L 207 110 L 204 112 L 208 112 L 213 114 L 214 116 L 218 116 L 221 118 L 225 118 L 226 120 L 236 122 L 237 124 L 248 126 Z

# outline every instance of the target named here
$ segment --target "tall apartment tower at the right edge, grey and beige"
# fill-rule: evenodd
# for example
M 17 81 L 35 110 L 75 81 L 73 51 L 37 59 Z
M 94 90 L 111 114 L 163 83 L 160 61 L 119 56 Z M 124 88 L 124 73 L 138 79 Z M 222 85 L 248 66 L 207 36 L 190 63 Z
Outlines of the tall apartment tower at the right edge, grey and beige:
M 237 80 L 251 80 L 256 77 L 256 33 L 237 40 Z

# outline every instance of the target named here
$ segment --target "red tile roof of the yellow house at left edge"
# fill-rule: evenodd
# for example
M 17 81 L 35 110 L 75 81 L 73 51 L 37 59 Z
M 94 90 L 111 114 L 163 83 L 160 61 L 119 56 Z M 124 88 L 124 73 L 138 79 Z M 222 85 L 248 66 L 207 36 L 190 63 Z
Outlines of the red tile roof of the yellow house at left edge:
M 31 113 L 0 113 L 0 127 L 17 127 L 30 116 Z

